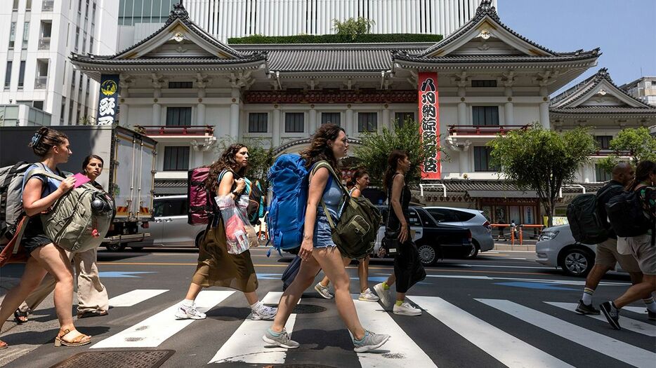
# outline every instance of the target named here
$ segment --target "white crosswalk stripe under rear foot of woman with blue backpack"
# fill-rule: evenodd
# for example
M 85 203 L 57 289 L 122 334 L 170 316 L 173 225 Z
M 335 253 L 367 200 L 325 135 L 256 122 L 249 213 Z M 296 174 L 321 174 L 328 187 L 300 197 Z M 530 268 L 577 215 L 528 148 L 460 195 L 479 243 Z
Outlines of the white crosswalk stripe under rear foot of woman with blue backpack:
M 269 292 L 262 299 L 264 304 L 278 304 L 282 292 Z M 284 326 L 287 332 L 291 334 L 294 330 L 296 314 L 289 315 L 289 320 Z M 223 362 L 244 362 L 251 364 L 283 364 L 287 357 L 286 348 L 267 348 L 266 343 L 262 341 L 262 336 L 268 327 L 271 327 L 271 321 L 254 321 L 249 318 L 242 322 L 237 331 L 230 336 L 216 355 L 209 361 L 210 363 Z

